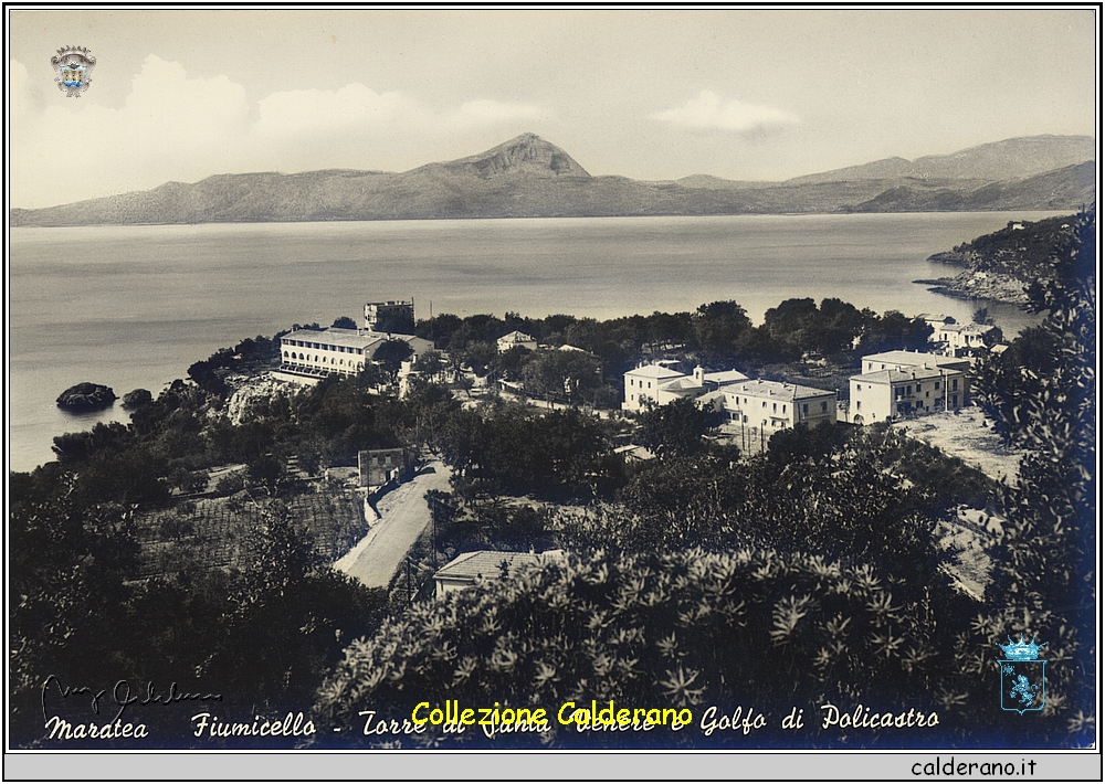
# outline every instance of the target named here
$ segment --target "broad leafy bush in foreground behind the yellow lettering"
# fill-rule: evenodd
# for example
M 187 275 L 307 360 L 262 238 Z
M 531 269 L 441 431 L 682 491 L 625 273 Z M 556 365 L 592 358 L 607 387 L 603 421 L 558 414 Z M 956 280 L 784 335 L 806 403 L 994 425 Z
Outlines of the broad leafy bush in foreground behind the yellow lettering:
M 462 704 L 693 709 L 737 704 L 750 691 L 756 708 L 785 717 L 796 695 L 814 704 L 914 706 L 928 711 L 937 685 L 956 678 L 950 634 L 923 601 L 904 601 L 893 575 L 870 564 L 820 555 L 747 549 L 712 553 L 611 555 L 566 553 L 490 579 L 478 591 L 415 604 L 375 637 L 346 650 L 319 688 L 313 713 L 320 727 L 348 727 L 362 704 L 391 711 L 410 695 Z M 505 698 L 503 695 L 508 695 Z M 992 704 L 992 701 L 990 702 Z M 697 707 L 696 707 L 697 706 Z M 951 742 L 956 708 L 940 723 L 916 730 L 812 735 L 814 745 Z M 1000 712 L 1000 711 L 992 711 Z M 362 719 L 361 719 L 362 721 Z M 415 742 L 487 745 L 634 746 L 633 732 L 555 731 L 488 740 L 481 732 Z M 986 734 L 987 727 L 979 730 Z M 345 744 L 324 730 L 323 743 Z M 799 733 L 801 734 L 801 733 Z M 797 735 L 770 722 L 754 735 L 670 733 L 687 746 L 791 744 Z M 412 737 L 413 738 L 413 737 Z M 394 743 L 403 739 L 390 739 Z M 360 741 L 356 741 L 360 742 Z M 666 743 L 667 741 L 665 741 Z M 958 744 L 957 744 L 958 745 Z

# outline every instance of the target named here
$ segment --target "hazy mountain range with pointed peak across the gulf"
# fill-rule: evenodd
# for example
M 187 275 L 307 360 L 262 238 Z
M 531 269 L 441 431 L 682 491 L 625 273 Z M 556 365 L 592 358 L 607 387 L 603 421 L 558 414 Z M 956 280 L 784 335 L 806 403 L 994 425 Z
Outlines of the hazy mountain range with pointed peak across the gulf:
M 1093 137 L 1032 136 L 782 182 L 708 174 L 644 181 L 593 177 L 556 145 L 523 134 L 478 155 L 404 172 L 217 174 L 12 209 L 9 225 L 1074 210 L 1096 202 L 1095 159 Z

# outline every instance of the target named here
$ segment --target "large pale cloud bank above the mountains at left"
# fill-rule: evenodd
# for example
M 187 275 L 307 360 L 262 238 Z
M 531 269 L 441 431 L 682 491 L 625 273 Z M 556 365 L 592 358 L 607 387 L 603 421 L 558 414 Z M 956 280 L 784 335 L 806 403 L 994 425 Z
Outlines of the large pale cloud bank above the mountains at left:
M 249 99 L 225 76 L 190 76 L 150 55 L 122 106 L 96 102 L 95 85 L 66 98 L 18 61 L 9 67 L 11 200 L 49 206 L 194 182 L 243 171 L 402 169 L 435 146 L 491 146 L 547 116 L 538 106 L 471 99 L 433 106 L 417 95 L 351 83 Z

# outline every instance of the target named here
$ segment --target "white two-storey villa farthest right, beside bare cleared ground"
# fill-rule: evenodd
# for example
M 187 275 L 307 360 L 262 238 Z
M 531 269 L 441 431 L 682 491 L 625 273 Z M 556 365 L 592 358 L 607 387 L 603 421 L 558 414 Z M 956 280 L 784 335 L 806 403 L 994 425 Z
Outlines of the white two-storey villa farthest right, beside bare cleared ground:
M 968 403 L 966 359 L 886 351 L 867 354 L 861 367 L 863 372 L 849 379 L 849 420 L 855 424 L 958 411 Z

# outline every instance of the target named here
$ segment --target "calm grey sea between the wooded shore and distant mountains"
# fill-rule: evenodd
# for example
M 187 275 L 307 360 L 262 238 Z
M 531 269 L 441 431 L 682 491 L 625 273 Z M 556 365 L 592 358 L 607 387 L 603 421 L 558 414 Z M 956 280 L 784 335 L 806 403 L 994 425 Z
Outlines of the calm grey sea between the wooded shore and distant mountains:
M 155 394 L 241 338 L 294 322 L 360 321 L 364 303 L 414 297 L 433 312 L 610 318 L 735 299 L 754 320 L 788 297 L 840 297 L 876 311 L 969 303 L 917 278 L 925 258 L 1056 213 L 743 215 L 502 221 L 15 229 L 10 241 L 10 468 L 52 458 L 51 438 L 116 407 L 74 416 L 78 381 Z M 1012 337 L 1032 317 L 993 308 Z

